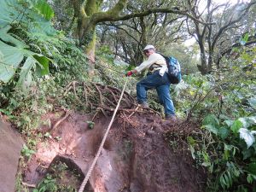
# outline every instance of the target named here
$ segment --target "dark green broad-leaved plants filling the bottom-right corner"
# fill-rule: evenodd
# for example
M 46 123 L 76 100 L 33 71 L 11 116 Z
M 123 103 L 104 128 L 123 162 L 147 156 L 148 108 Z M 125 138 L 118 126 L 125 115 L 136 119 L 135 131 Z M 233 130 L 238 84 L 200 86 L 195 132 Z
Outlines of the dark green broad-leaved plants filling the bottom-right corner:
M 213 115 L 207 115 L 203 120 L 202 129 L 213 133 L 208 137 L 214 141 L 212 143 L 203 143 L 197 141 L 197 153 L 206 153 L 208 158 L 197 156 L 201 160 L 201 166 L 207 166 L 211 172 L 210 178 L 215 183 L 209 183 L 212 191 L 229 190 L 236 191 L 238 186 L 243 185 L 244 189 L 250 191 L 248 184 L 256 183 L 255 158 L 256 143 L 253 140 L 250 146 L 245 143 L 247 137 L 242 135 L 241 127 L 247 130 L 253 130 L 256 125 L 256 117 L 239 118 L 232 122 L 230 120 L 219 119 Z M 234 129 L 236 127 L 236 129 Z M 240 133 L 240 135 L 239 135 Z M 190 145 L 194 149 L 195 145 Z M 248 180 L 247 180 L 248 178 Z

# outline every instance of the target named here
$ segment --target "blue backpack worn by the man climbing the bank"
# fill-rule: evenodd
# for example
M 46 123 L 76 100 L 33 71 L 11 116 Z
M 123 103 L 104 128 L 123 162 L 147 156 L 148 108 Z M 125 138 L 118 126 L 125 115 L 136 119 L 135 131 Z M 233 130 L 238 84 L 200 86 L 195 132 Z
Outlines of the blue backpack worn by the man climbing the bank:
M 172 84 L 178 84 L 182 79 L 181 68 L 179 62 L 173 56 L 167 57 L 162 55 L 166 59 L 168 68 L 168 76 Z

